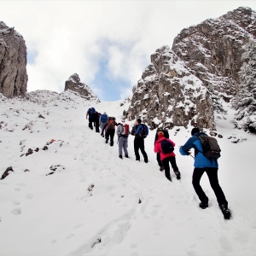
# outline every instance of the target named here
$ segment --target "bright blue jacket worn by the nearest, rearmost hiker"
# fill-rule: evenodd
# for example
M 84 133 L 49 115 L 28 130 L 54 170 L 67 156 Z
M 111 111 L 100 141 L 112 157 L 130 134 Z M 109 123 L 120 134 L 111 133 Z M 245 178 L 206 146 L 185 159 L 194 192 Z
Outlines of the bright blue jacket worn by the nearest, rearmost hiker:
M 188 155 L 190 148 L 195 148 L 195 168 L 205 168 L 205 167 L 214 167 L 218 168 L 218 160 L 210 160 L 204 156 L 201 152 L 203 148 L 201 146 L 201 141 L 199 135 L 207 135 L 203 132 L 197 132 L 194 136 L 190 137 L 189 140 L 179 148 L 179 153 L 182 155 Z

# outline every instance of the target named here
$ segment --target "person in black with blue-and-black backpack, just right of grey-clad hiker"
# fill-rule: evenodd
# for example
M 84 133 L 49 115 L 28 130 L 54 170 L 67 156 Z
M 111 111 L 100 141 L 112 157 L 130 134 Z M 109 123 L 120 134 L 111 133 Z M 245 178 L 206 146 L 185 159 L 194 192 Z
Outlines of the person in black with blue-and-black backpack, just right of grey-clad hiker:
M 134 153 L 136 160 L 140 161 L 139 149 L 143 154 L 144 162 L 148 163 L 148 154 L 144 149 L 144 138 L 148 135 L 148 126 L 142 124 L 141 119 L 137 119 L 135 125 L 132 127 L 131 135 L 135 136 L 134 138 Z

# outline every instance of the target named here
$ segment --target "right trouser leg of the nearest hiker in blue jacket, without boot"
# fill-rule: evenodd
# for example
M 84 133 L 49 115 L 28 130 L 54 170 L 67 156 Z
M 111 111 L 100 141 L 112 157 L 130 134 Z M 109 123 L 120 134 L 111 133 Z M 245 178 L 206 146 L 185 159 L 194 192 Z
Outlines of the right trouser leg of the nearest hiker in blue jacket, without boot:
M 228 205 L 226 201 L 225 195 L 221 187 L 218 183 L 218 168 L 206 168 L 207 175 L 209 177 L 209 181 L 211 183 L 212 189 L 217 197 L 218 205 L 221 206 L 223 204 Z

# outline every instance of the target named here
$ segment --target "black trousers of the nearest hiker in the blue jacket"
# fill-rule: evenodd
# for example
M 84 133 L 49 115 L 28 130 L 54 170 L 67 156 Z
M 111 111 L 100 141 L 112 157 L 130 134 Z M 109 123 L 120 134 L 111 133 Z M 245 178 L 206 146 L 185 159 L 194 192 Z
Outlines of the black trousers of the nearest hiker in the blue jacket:
M 225 195 L 218 184 L 218 168 L 205 167 L 205 168 L 195 168 L 193 172 L 192 183 L 195 189 L 195 193 L 198 195 L 201 201 L 208 201 L 208 197 L 201 188 L 200 180 L 204 172 L 207 172 L 212 189 L 217 197 L 218 205 L 228 204 Z

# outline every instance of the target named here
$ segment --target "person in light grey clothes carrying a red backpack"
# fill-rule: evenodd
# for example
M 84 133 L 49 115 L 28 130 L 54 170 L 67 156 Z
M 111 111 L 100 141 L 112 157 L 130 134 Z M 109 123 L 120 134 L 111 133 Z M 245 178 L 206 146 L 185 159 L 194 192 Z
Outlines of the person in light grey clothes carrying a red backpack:
M 129 125 L 119 123 L 116 129 L 116 134 L 119 137 L 119 158 L 123 159 L 123 148 L 125 157 L 128 158 L 128 136 L 131 134 L 131 131 L 129 131 Z

